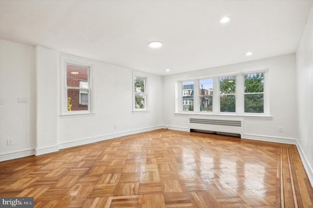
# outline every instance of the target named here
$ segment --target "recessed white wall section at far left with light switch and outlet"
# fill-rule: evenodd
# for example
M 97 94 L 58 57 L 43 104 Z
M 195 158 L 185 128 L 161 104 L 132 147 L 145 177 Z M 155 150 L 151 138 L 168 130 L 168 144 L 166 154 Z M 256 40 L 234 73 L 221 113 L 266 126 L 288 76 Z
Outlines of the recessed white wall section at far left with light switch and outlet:
M 0 161 L 34 154 L 35 83 L 35 48 L 0 40 Z

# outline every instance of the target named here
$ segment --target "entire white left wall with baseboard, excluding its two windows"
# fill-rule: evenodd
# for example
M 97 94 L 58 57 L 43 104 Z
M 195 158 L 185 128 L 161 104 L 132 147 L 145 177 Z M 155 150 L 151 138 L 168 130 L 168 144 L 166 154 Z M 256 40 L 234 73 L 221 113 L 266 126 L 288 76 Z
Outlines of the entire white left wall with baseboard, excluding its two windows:
M 61 118 L 61 54 L 5 40 L 0 46 L 0 98 L 5 100 L 0 161 L 162 128 L 161 76 L 148 74 L 149 112 L 133 113 L 133 70 L 88 60 L 94 63 L 96 113 Z M 8 139 L 14 144 L 7 146 Z

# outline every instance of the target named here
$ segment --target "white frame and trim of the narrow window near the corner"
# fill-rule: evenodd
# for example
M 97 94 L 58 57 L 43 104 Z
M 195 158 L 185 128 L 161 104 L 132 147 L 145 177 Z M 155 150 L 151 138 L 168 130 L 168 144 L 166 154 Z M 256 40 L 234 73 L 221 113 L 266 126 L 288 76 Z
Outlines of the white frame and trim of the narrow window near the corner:
M 144 108 L 136 108 L 135 106 L 135 96 L 136 96 L 136 92 L 134 91 L 134 84 L 135 84 L 135 80 L 136 78 L 141 78 L 144 79 L 144 92 L 140 93 L 144 95 Z M 133 85 L 132 85 L 132 91 L 133 91 L 133 113 L 135 112 L 149 112 L 149 108 L 148 108 L 148 75 L 147 74 L 142 74 L 139 72 L 133 72 Z

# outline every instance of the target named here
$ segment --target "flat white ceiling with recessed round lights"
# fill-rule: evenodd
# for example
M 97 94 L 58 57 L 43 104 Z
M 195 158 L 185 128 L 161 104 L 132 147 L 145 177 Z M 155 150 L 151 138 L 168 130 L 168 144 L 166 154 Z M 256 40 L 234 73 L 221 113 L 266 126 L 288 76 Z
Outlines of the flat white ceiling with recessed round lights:
M 312 2 L 0 0 L 0 38 L 167 75 L 294 53 Z

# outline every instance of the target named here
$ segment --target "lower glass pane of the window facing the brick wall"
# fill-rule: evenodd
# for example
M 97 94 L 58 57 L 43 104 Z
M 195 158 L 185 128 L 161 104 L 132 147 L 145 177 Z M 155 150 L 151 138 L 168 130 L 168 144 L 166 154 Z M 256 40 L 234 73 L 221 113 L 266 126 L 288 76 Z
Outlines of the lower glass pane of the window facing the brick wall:
M 87 101 L 84 104 L 81 104 L 80 99 L 83 94 L 83 101 Z M 88 97 L 89 90 L 87 93 L 81 93 L 79 89 L 67 89 L 67 111 L 78 111 L 78 110 L 88 110 Z

